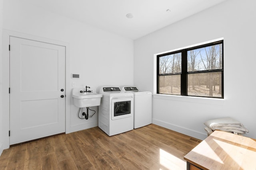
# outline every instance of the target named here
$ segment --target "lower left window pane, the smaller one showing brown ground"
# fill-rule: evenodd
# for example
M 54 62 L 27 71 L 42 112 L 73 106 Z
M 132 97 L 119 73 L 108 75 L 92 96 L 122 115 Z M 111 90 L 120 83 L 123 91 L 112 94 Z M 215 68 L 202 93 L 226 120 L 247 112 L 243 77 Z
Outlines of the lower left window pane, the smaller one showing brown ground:
M 159 93 L 180 95 L 180 74 L 159 76 Z

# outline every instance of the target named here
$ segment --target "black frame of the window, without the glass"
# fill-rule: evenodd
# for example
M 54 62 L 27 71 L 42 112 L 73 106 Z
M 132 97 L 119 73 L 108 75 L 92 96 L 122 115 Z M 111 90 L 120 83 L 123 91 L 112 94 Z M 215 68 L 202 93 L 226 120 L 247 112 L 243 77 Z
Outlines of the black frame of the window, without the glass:
M 214 69 L 214 70 L 200 70 L 200 71 L 187 71 L 187 66 L 188 66 L 188 61 L 187 61 L 187 54 L 188 51 L 191 50 L 195 50 L 195 49 L 200 49 L 200 48 L 204 48 L 204 47 L 209 47 L 212 45 L 218 45 L 218 44 L 222 44 L 222 68 L 220 69 Z M 166 56 L 166 55 L 172 55 L 172 54 L 176 54 L 176 53 L 181 53 L 182 57 L 181 57 L 181 72 L 180 73 L 166 73 L 166 74 L 159 74 L 159 59 L 160 57 Z M 192 95 L 188 95 L 188 75 L 189 74 L 196 74 L 196 73 L 212 73 L 212 72 L 221 72 L 221 88 L 222 88 L 222 94 L 221 97 L 214 97 L 214 96 L 194 96 L 194 97 L 204 97 L 204 98 L 220 98 L 220 99 L 224 99 L 224 40 L 220 40 L 220 41 L 215 41 L 212 43 L 207 43 L 207 44 L 203 44 L 203 45 L 198 45 L 195 47 L 190 47 L 190 48 L 185 48 L 185 49 L 181 49 L 181 50 L 177 50 L 177 51 L 172 51 L 169 53 L 164 53 L 164 54 L 160 54 L 157 55 L 157 71 L 156 71 L 156 89 L 157 89 L 157 94 L 164 94 L 164 93 L 159 93 L 159 78 L 160 76 L 166 76 L 166 75 L 175 75 L 175 74 L 180 74 L 181 78 L 180 78 L 180 86 L 181 86 L 181 92 L 180 95 L 178 94 L 168 94 L 168 95 L 176 95 L 176 96 L 192 96 Z

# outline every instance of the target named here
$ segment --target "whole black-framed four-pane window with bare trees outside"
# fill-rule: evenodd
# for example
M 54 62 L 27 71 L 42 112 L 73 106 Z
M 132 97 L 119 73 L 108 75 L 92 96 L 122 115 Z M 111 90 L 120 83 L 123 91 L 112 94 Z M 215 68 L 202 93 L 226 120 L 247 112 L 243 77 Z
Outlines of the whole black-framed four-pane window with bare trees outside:
M 224 98 L 223 40 L 157 55 L 157 93 Z

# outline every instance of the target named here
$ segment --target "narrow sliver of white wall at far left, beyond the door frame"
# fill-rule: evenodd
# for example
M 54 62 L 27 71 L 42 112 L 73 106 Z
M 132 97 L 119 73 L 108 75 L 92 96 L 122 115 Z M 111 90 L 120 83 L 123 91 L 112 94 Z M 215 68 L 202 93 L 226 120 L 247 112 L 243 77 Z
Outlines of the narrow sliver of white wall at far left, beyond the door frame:
M 3 0 L 0 0 L 0 155 L 4 149 L 3 137 L 3 110 L 2 110 L 2 28 L 3 28 Z

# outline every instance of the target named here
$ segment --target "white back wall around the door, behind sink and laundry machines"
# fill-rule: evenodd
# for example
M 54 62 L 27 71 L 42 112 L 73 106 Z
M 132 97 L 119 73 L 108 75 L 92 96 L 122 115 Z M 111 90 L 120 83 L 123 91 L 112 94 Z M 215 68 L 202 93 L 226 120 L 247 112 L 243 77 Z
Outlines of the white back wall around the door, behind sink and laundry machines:
M 73 82 L 76 87 L 90 86 L 94 92 L 98 92 L 100 86 L 127 86 L 134 83 L 131 39 L 24 4 L 20 0 L 4 0 L 3 29 L 68 44 L 66 89 L 70 90 L 66 93 L 69 95 Z M 71 73 L 80 74 L 80 79 L 72 79 Z M 6 80 L 7 76 L 3 75 L 2 79 Z M 3 83 L 6 86 L 7 82 Z M 7 99 L 8 94 L 3 98 Z M 78 107 L 73 105 L 72 98 L 66 101 L 70 104 L 70 110 L 66 110 L 66 114 L 70 114 L 67 117 L 66 133 L 98 125 L 97 107 L 91 108 L 97 111 L 92 118 L 81 120 L 77 117 Z M 90 111 L 89 115 L 92 113 Z M 1 112 L 0 118 L 2 115 L 7 117 L 8 113 Z M 4 131 L 7 131 L 8 123 L 5 124 Z M 7 138 L 4 136 L 5 141 Z

